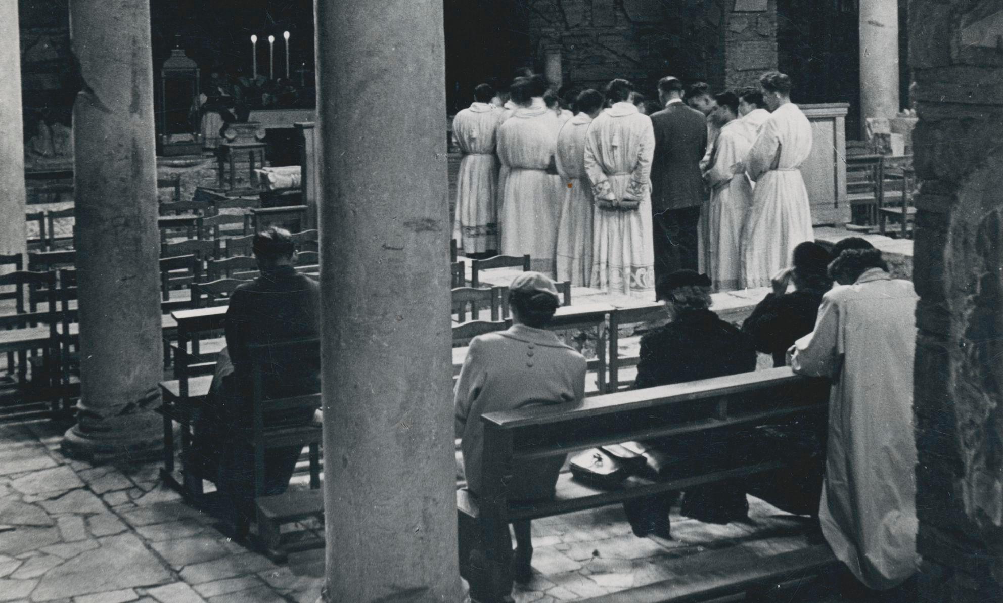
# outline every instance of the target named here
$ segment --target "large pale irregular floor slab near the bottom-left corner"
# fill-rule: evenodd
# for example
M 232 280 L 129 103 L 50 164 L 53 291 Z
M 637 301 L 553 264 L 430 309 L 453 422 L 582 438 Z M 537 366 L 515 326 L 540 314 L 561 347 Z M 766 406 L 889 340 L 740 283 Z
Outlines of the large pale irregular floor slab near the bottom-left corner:
M 132 534 L 108 536 L 100 547 L 46 574 L 31 595 L 50 601 L 91 593 L 155 585 L 172 579 L 160 561 Z

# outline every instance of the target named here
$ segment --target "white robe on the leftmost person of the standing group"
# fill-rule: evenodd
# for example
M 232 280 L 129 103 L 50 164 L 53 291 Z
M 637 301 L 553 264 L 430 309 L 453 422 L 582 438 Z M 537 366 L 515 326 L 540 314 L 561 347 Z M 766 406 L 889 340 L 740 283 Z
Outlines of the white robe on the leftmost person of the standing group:
M 456 181 L 456 216 L 452 238 L 467 253 L 483 253 L 497 246 L 497 160 L 495 134 L 501 109 L 474 102 L 452 120 L 452 134 L 463 152 Z

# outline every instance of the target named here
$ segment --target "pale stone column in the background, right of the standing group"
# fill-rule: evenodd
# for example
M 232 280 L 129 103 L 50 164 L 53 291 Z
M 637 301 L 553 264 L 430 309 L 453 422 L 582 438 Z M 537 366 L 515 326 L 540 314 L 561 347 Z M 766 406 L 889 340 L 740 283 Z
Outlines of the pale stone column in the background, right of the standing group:
M 891 118 L 899 113 L 899 1 L 859 4 L 861 127 L 866 131 L 866 118 Z

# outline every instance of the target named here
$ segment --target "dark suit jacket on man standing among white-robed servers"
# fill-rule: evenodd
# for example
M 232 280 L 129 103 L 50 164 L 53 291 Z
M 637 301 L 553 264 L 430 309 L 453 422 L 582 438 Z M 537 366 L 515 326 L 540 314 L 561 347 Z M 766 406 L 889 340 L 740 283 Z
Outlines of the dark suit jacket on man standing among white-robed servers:
M 700 160 L 707 150 L 707 123 L 700 111 L 673 103 L 651 116 L 655 158 L 651 166 L 651 209 L 656 214 L 703 203 Z

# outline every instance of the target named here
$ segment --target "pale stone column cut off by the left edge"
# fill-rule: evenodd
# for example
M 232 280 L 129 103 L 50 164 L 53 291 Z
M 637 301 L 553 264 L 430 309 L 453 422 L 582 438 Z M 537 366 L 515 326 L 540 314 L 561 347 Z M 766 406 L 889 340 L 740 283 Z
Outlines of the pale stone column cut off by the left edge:
M 0 255 L 24 254 L 27 240 L 20 43 L 17 2 L 0 3 Z

